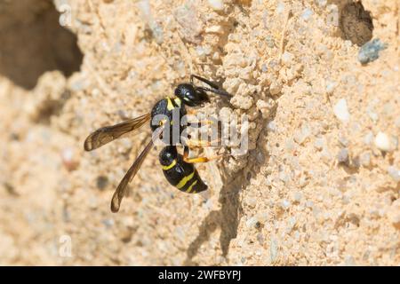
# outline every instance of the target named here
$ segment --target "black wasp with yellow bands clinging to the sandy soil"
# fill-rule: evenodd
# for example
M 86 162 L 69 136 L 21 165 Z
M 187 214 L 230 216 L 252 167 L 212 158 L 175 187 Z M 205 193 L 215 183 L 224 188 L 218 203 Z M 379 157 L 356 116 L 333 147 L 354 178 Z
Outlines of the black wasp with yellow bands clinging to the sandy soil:
M 196 84 L 193 82 L 194 78 L 206 83 L 210 88 L 196 86 Z M 85 139 L 84 150 L 92 151 L 97 149 L 100 146 L 115 140 L 116 138 L 120 138 L 125 133 L 139 129 L 148 121 L 151 121 L 150 127 L 153 134 L 155 134 L 156 130 L 159 130 L 160 127 L 163 127 L 163 124 L 167 121 L 169 121 L 171 125 L 174 123 L 179 123 L 179 132 L 181 133 L 183 130 L 185 130 L 186 126 L 189 125 L 189 123 L 181 123 L 180 120 L 184 115 L 187 114 L 185 106 L 204 106 L 204 103 L 210 101 L 207 92 L 212 92 L 220 96 L 231 97 L 227 91 L 221 90 L 217 84 L 212 83 L 203 77 L 190 75 L 190 83 L 180 83 L 175 88 L 175 98 L 166 97 L 157 101 L 156 105 L 153 106 L 153 109 L 149 114 L 143 114 L 131 120 L 95 130 Z M 174 112 L 178 112 L 179 114 L 178 122 L 176 122 L 177 117 L 173 115 Z M 163 114 L 167 119 L 160 121 L 159 123 L 154 123 L 153 118 L 157 114 Z M 172 137 L 172 135 L 170 135 L 170 137 Z M 178 140 L 176 143 L 172 143 L 171 140 L 164 141 L 164 143 L 166 143 L 168 146 L 165 146 L 159 154 L 159 161 L 163 167 L 164 176 L 171 185 L 177 187 L 182 192 L 203 192 L 207 189 L 207 185 L 205 185 L 203 180 L 199 177 L 193 163 L 208 162 L 210 159 L 207 157 L 189 158 L 189 146 L 186 143 L 182 144 L 182 142 L 184 141 Z M 184 146 L 183 155 L 178 154 L 176 147 L 176 144 L 178 143 Z M 135 162 L 133 162 L 131 168 L 126 172 L 124 178 L 116 188 L 116 192 L 111 200 L 111 211 L 117 212 L 119 210 L 127 185 L 130 181 L 132 181 L 132 178 L 140 169 L 141 164 L 153 146 L 154 142 L 153 139 L 151 139 Z

